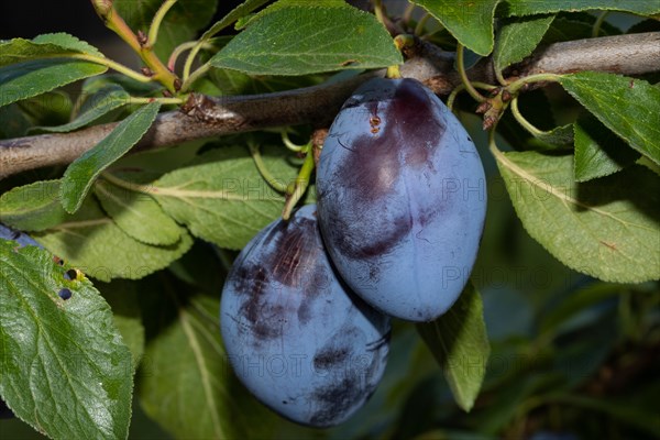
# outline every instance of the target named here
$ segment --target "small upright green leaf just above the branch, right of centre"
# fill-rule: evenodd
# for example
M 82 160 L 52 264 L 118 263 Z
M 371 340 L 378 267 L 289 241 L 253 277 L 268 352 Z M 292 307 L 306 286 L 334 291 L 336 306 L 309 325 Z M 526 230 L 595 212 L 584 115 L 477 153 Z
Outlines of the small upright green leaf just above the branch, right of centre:
M 495 69 L 502 72 L 531 54 L 543 38 L 552 20 L 554 15 L 505 20 L 495 41 Z

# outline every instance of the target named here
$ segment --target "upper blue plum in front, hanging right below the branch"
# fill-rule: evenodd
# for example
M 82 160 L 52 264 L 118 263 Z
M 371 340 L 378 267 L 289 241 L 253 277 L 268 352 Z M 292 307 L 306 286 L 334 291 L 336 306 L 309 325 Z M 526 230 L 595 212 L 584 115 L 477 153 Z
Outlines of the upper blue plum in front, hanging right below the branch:
M 448 108 L 414 79 L 376 78 L 323 144 L 318 216 L 340 276 L 391 316 L 430 321 L 461 294 L 486 212 L 484 169 Z

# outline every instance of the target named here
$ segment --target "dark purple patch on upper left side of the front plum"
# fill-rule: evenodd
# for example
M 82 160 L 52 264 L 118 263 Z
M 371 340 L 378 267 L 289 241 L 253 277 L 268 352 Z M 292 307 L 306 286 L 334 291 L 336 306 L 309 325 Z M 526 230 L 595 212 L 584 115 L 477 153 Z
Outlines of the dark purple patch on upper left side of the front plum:
M 380 218 L 380 213 L 388 197 L 402 197 L 393 193 L 403 169 L 424 173 L 426 167 L 435 173 L 432 155 L 446 130 L 436 105 L 415 80 L 402 80 L 391 99 L 370 101 L 366 94 L 364 116 L 354 122 L 356 133 L 337 139 L 349 150 L 333 175 L 342 187 L 332 189 L 334 194 L 321 194 L 322 198 L 334 198 L 328 201 L 338 208 L 327 210 L 327 231 L 333 244 L 343 255 L 360 260 L 388 252 L 413 228 L 409 212 L 393 221 Z M 377 133 L 373 133 L 374 121 L 378 121 Z M 345 212 L 353 216 L 350 221 Z

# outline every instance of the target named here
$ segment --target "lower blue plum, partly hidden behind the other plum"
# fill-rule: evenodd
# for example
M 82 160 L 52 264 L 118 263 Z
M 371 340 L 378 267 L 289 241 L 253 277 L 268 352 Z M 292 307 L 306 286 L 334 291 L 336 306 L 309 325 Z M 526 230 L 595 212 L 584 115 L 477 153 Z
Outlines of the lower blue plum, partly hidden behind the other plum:
M 338 425 L 364 405 L 389 351 L 389 318 L 338 278 L 314 205 L 271 223 L 239 254 L 222 290 L 220 326 L 245 387 L 314 427 Z

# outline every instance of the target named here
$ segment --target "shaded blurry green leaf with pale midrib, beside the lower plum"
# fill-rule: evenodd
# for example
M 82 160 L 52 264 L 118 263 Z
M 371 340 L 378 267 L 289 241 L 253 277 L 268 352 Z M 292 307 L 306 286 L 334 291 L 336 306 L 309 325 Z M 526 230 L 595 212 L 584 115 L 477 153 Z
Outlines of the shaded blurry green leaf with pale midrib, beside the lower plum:
M 265 432 L 250 432 L 265 430 L 270 415 L 261 405 L 243 404 L 245 389 L 231 373 L 220 338 L 218 297 L 150 299 L 144 309 L 151 310 L 147 331 L 154 337 L 138 384 L 144 411 L 176 438 L 265 438 Z

